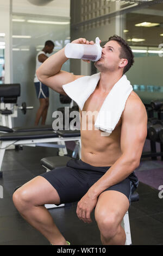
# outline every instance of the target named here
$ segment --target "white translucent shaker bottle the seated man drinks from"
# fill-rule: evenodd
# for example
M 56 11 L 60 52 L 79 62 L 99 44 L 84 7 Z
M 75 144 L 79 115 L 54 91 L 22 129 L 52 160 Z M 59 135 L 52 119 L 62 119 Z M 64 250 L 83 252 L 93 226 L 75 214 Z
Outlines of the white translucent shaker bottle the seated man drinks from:
M 65 47 L 65 55 L 67 58 L 88 59 L 96 62 L 102 55 L 99 38 L 96 38 L 96 44 L 93 45 L 68 43 Z

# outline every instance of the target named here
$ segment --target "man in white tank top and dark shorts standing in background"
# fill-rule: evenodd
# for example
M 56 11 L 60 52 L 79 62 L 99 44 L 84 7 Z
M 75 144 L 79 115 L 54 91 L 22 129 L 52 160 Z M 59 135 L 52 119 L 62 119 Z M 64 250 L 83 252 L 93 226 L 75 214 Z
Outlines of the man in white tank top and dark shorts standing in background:
M 47 53 L 51 54 L 53 52 L 53 49 L 54 49 L 54 42 L 51 40 L 46 41 L 42 51 L 37 53 L 36 70 L 48 58 Z M 49 88 L 38 80 L 36 72 L 34 77 L 34 84 L 36 88 L 37 98 L 40 101 L 40 106 L 36 113 L 35 125 L 39 124 L 41 117 L 42 117 L 41 125 L 45 125 L 48 106 L 49 106 Z

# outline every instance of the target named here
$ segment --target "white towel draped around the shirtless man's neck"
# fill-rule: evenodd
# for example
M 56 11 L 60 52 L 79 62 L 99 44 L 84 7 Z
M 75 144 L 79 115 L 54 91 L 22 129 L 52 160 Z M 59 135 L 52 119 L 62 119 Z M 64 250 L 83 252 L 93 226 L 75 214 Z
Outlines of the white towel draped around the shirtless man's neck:
M 77 103 L 82 110 L 85 101 L 94 92 L 101 73 L 92 76 L 83 76 L 67 83 L 62 88 L 65 93 Z M 95 127 L 107 133 L 107 136 L 115 129 L 126 105 L 128 96 L 133 91 L 130 81 L 123 75 L 106 96 L 103 105 L 97 115 Z

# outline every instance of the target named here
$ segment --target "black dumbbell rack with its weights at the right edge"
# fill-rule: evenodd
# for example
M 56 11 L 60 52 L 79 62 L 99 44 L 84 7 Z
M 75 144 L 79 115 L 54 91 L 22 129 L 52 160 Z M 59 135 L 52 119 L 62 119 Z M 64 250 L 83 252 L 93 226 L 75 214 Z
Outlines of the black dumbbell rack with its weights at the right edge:
M 163 102 L 161 100 L 153 100 L 150 104 L 145 104 L 148 123 L 147 123 L 147 139 L 150 141 L 151 151 L 142 153 L 141 158 L 151 157 L 157 160 L 161 156 L 163 160 Z M 156 151 L 156 143 L 160 144 L 160 151 Z

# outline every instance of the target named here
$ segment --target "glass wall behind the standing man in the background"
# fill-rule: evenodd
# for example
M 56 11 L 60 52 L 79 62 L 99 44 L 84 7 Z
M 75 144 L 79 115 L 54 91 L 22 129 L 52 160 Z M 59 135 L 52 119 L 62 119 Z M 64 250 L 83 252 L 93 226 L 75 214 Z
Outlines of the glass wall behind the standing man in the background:
M 26 116 L 20 111 L 18 118 L 14 119 L 14 126 L 34 125 L 35 114 L 39 107 L 34 87 L 35 59 L 37 52 L 42 50 L 47 40 L 52 40 L 55 44 L 52 54 L 64 47 L 70 41 L 70 20 L 47 16 L 12 16 L 13 82 L 21 84 L 18 105 L 25 101 L 27 106 L 34 106 L 34 109 L 27 111 Z M 69 60 L 62 69 L 70 71 Z M 60 107 L 60 102 L 58 93 L 51 89 L 49 93 L 46 123 L 52 124 L 52 113 Z

